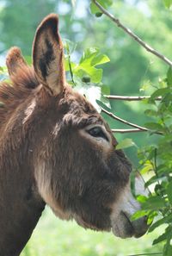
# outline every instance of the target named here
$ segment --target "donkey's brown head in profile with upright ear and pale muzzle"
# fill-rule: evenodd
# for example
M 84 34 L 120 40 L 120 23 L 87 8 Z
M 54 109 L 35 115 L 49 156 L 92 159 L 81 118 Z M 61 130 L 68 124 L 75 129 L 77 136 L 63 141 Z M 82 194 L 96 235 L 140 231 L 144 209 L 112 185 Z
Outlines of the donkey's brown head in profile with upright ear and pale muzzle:
M 15 51 L 15 65 L 14 58 L 7 61 L 12 76 L 17 66 L 26 66 Z M 122 238 L 139 237 L 147 224 L 145 217 L 130 220 L 140 209 L 130 190 L 132 166 L 115 149 L 117 141 L 95 108 L 66 84 L 63 58 L 58 16 L 52 14 L 35 34 L 39 85 L 23 119 L 24 128 L 34 126 L 34 178 L 40 196 L 62 219 L 73 218 L 84 228 L 112 229 Z M 144 193 L 140 178 L 136 186 Z

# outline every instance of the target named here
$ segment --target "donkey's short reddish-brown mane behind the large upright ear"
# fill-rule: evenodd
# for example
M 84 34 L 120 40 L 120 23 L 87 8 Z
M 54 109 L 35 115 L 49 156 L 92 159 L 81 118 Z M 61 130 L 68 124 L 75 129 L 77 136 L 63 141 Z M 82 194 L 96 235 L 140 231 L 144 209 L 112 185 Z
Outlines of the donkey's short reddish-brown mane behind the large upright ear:
M 38 87 L 38 82 L 33 66 L 20 66 L 11 74 L 9 82 L 0 84 L 0 130 L 5 122 L 32 91 Z

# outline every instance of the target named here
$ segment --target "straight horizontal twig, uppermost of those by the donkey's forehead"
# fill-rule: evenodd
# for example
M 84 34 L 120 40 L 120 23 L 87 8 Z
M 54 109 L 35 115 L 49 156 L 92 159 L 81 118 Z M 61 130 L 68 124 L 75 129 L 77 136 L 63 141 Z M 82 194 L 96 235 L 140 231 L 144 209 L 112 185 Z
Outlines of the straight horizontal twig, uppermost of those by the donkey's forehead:
M 151 96 L 120 96 L 120 95 L 104 95 L 107 99 L 121 100 L 121 101 L 142 101 L 144 99 L 150 99 Z M 156 101 L 161 101 L 162 97 L 156 97 Z

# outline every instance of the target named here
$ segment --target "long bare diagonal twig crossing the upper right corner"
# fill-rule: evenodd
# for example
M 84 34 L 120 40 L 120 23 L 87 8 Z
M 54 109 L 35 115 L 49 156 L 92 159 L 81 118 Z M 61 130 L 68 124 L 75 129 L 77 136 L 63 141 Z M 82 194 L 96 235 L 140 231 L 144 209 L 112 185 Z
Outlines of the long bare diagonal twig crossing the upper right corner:
M 93 3 L 101 10 L 101 12 L 109 17 L 119 28 L 122 28 L 126 34 L 129 34 L 135 41 L 138 42 L 142 47 L 146 49 L 146 51 L 156 55 L 159 59 L 162 59 L 164 62 L 166 62 L 169 66 L 172 66 L 172 61 L 165 57 L 162 53 L 158 53 L 155 49 L 150 47 L 147 43 L 142 41 L 137 34 L 134 34 L 130 28 L 126 28 L 119 19 L 115 18 L 111 13 L 107 11 L 107 9 L 104 9 L 100 3 L 98 3 L 96 0 L 92 0 Z

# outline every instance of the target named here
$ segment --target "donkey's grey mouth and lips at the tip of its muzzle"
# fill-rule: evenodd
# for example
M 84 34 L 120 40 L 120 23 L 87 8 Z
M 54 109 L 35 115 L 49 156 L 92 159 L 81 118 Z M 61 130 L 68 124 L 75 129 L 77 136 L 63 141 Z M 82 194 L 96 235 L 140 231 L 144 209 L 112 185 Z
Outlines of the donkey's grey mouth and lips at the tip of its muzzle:
M 114 235 L 120 238 L 129 238 L 132 236 L 139 238 L 144 235 L 148 229 L 146 217 L 139 218 L 132 222 L 130 217 L 123 211 L 120 212 L 115 222 L 112 222 L 112 226 Z

